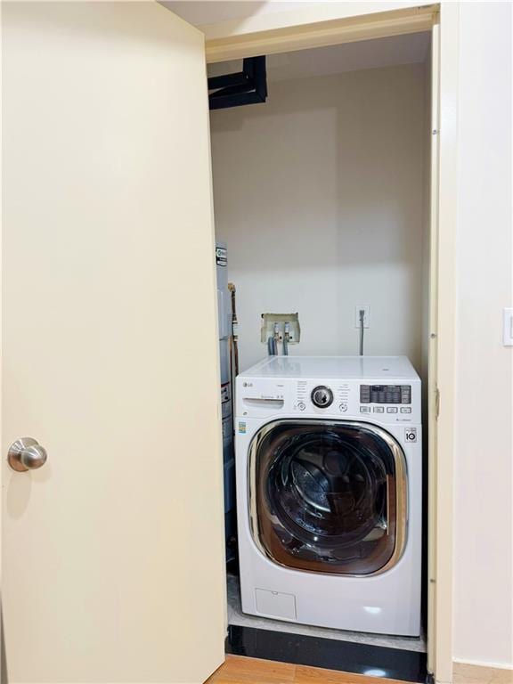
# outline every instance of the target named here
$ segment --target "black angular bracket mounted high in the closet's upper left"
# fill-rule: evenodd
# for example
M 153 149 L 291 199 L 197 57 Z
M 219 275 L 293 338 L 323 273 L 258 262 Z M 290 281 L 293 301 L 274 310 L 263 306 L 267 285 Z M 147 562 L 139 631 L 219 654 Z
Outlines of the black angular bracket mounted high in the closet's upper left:
M 267 99 L 267 73 L 264 57 L 247 57 L 242 71 L 208 78 L 208 106 L 210 110 L 224 110 L 257 104 Z

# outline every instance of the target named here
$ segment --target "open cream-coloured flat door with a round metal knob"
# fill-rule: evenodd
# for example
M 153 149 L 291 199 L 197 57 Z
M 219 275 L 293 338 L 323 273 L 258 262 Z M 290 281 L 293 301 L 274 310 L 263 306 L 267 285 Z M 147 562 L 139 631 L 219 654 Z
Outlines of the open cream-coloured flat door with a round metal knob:
M 203 36 L 149 2 L 3 23 L 9 681 L 201 682 L 224 660 Z M 10 468 L 20 437 L 45 465 Z

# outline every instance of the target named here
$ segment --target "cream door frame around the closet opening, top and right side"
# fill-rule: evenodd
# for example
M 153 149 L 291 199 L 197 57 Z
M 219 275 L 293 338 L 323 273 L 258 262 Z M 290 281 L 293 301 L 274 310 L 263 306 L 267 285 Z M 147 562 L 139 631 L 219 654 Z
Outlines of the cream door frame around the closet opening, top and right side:
M 418 33 L 434 27 L 432 74 L 432 144 L 429 282 L 428 453 L 428 672 L 439 684 L 452 682 L 452 521 L 455 414 L 457 104 L 459 5 L 419 4 L 395 9 L 352 3 L 330 20 L 279 25 L 280 13 L 254 22 L 254 31 L 228 22 L 225 35 L 208 27 L 207 62 L 285 53 L 371 38 Z M 367 8 L 366 8 L 367 5 Z M 381 11 L 394 6 L 390 11 Z M 367 9 L 367 13 L 365 10 Z M 313 11 L 314 12 L 314 11 Z M 321 16 L 321 15 L 319 15 Z M 222 26 L 222 25 L 220 25 Z M 437 69 L 436 69 L 437 66 Z M 435 257 L 434 257 L 435 256 Z M 444 297 L 438 297 L 444 292 Z

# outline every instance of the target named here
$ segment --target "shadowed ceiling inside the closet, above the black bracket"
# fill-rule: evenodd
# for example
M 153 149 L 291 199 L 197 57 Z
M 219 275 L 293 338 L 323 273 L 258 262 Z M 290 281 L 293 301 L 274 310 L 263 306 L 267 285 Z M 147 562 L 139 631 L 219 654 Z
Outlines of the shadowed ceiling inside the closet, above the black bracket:
M 423 62 L 428 58 L 429 40 L 428 33 L 416 33 L 271 54 L 267 57 L 267 78 L 275 82 Z M 241 61 L 227 61 L 209 65 L 208 74 L 216 76 L 240 70 Z

